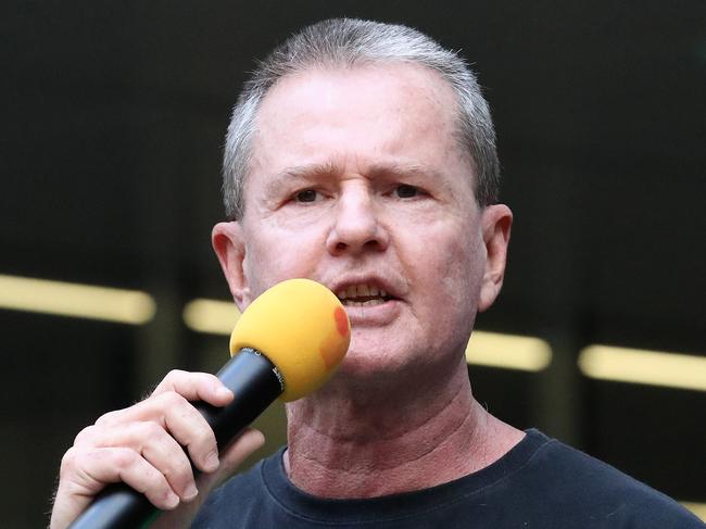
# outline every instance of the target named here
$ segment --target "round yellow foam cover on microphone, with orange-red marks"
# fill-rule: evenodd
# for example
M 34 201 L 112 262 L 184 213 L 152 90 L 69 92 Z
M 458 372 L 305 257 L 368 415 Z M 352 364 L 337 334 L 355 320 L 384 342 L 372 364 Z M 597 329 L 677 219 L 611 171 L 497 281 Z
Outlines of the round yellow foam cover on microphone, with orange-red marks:
M 341 363 L 351 325 L 339 299 L 311 279 L 289 279 L 263 292 L 243 312 L 230 336 L 230 355 L 253 348 L 285 379 L 282 401 L 319 388 Z

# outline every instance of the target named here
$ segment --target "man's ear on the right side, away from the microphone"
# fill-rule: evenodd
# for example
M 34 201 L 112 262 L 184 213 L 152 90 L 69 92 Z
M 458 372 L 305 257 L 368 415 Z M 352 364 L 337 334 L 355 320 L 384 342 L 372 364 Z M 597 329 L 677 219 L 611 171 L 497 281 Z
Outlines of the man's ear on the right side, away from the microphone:
M 480 312 L 487 311 L 493 304 L 503 287 L 512 226 L 513 212 L 505 204 L 488 205 L 481 213 L 486 269 L 478 303 Z

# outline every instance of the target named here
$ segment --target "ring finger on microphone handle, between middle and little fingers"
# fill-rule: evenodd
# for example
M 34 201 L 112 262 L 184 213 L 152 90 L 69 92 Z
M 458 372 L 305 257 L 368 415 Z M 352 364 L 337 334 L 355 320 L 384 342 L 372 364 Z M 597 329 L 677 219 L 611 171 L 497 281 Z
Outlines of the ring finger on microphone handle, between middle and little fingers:
M 190 501 L 198 493 L 184 449 L 156 423 L 127 423 L 110 428 L 91 426 L 81 430 L 74 445 L 133 449 L 164 475 L 181 500 Z

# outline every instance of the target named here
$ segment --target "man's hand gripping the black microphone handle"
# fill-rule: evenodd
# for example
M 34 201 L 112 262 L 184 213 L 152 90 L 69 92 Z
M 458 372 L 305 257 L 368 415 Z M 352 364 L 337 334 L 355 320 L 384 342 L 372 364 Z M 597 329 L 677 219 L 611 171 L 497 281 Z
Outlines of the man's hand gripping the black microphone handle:
M 144 401 L 81 430 L 62 458 L 50 528 L 66 528 L 108 483 L 118 481 L 173 511 L 168 527 L 187 527 L 211 489 L 264 442 L 249 429 L 218 457 L 211 427 L 189 401 L 225 406 L 232 399 L 214 375 L 173 370 Z M 189 459 L 203 473 L 197 481 Z

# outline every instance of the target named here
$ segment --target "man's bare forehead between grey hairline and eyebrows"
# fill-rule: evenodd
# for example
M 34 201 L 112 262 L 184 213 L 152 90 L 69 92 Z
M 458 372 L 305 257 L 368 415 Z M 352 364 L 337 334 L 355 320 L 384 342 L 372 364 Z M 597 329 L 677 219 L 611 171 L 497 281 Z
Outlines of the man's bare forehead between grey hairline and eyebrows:
M 436 72 L 404 63 L 315 68 L 280 79 L 256 118 L 251 173 L 331 156 L 362 164 L 463 158 L 456 98 Z M 395 160 L 398 159 L 398 160 Z

